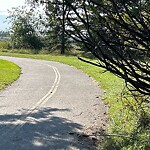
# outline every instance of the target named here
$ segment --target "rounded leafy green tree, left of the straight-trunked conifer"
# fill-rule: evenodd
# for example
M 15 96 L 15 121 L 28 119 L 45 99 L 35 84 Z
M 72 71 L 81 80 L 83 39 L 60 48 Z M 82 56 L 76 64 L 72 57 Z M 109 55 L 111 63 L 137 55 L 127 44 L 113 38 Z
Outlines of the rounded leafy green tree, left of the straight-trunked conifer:
M 42 47 L 36 24 L 36 16 L 25 7 L 13 8 L 9 11 L 11 22 L 10 34 L 13 48 L 39 50 Z

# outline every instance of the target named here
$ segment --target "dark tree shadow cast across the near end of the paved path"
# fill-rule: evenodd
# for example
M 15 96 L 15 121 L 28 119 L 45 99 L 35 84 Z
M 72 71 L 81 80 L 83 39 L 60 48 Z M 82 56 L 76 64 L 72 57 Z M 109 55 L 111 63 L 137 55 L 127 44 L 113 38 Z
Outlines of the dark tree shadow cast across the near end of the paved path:
M 69 109 L 41 108 L 20 110 L 20 114 L 0 115 L 0 149 L 2 150 L 50 150 L 94 149 L 91 139 L 79 140 L 75 134 L 82 125 L 56 113 Z M 88 143 L 87 143 L 88 142 Z

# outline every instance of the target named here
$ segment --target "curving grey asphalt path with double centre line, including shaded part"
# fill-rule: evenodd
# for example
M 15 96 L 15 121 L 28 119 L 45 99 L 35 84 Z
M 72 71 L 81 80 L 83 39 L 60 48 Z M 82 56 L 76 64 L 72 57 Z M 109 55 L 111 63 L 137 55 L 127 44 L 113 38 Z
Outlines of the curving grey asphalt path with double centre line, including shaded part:
M 82 71 L 65 64 L 0 56 L 22 69 L 0 91 L 0 150 L 94 150 L 102 127 L 103 91 Z

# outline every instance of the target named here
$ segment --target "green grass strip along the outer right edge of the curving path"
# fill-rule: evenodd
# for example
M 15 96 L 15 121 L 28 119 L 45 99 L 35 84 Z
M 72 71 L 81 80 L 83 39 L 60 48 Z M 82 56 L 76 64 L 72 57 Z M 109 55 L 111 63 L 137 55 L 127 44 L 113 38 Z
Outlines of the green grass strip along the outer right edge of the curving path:
M 25 57 L 25 58 L 33 58 L 33 59 L 42 59 L 49 61 L 57 61 L 60 63 L 68 64 L 76 67 L 77 69 L 82 70 L 89 76 L 93 77 L 100 85 L 102 89 L 104 89 L 103 99 L 105 103 L 109 106 L 108 110 L 108 118 L 109 118 L 109 127 L 108 133 L 123 133 L 124 135 L 130 134 L 130 131 L 134 129 L 134 123 L 130 124 L 129 121 L 134 121 L 134 116 L 130 115 L 129 112 L 123 112 L 121 114 L 120 110 L 123 110 L 122 101 L 121 101 L 121 92 L 124 87 L 124 82 L 122 79 L 114 76 L 110 72 L 105 72 L 104 69 L 84 63 L 77 59 L 76 56 L 72 55 L 59 55 L 55 54 L 18 54 L 18 53 L 5 53 L 0 52 L 0 55 L 6 56 L 15 56 L 15 57 Z M 141 140 L 142 139 L 142 140 Z M 122 137 L 114 136 L 106 138 L 102 141 L 100 149 L 104 150 L 132 150 L 136 149 L 135 147 L 142 145 L 145 139 L 145 135 L 142 135 L 137 141 L 131 141 L 129 139 L 124 139 Z M 140 143 L 141 142 L 141 143 Z M 141 148 L 142 150 L 143 148 Z

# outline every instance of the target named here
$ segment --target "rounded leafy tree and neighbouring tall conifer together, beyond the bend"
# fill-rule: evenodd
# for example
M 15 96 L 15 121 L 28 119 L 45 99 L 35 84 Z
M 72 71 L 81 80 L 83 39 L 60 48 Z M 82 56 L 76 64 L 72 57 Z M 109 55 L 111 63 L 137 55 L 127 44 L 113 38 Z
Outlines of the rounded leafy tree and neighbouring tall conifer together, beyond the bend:
M 35 5 L 30 5 L 30 9 L 23 6 L 9 11 L 7 19 L 11 23 L 12 48 L 36 51 L 42 48 L 49 51 L 59 49 L 64 54 L 73 42 L 65 32 L 66 6 L 55 1 L 42 4 L 45 5 L 42 13 L 35 11 Z

